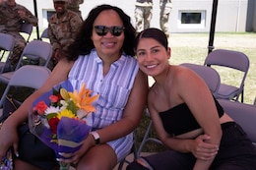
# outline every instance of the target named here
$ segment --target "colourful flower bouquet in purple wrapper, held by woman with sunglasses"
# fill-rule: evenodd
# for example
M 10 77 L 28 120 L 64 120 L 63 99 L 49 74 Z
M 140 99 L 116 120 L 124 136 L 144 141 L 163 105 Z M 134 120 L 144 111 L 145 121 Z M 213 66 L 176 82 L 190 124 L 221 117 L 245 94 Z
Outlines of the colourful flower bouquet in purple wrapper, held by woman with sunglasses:
M 33 102 L 30 130 L 55 151 L 57 160 L 65 159 L 59 154 L 61 152 L 77 151 L 89 136 L 96 111 L 92 103 L 98 97 L 91 96 L 91 93 L 85 84 L 80 91 L 73 91 L 70 82 L 66 81 Z M 69 168 L 69 165 L 59 163 L 60 169 Z

